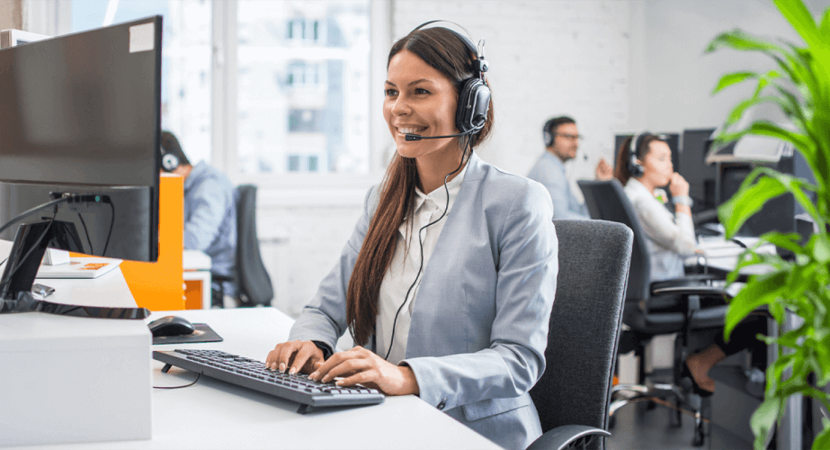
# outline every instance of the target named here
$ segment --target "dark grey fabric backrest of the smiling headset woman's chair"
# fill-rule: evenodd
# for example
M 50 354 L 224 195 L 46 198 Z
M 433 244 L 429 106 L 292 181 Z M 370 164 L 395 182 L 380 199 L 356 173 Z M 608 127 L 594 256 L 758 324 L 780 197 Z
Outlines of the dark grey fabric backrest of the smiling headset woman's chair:
M 559 240 L 557 293 L 547 368 L 531 397 L 542 432 L 562 425 L 607 429 L 632 233 L 604 220 L 553 223 Z M 604 448 L 604 441 L 593 439 L 589 448 Z

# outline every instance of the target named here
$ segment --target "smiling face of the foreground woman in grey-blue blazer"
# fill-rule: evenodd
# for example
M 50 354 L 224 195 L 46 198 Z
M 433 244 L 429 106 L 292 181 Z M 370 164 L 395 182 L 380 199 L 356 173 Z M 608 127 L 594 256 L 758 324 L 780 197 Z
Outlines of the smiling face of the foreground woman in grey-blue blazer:
M 383 118 L 402 157 L 423 157 L 447 148 L 459 148 L 458 138 L 405 139 L 407 133 L 422 136 L 457 134 L 455 111 L 458 93 L 450 78 L 426 64 L 415 53 L 401 50 L 389 61 Z

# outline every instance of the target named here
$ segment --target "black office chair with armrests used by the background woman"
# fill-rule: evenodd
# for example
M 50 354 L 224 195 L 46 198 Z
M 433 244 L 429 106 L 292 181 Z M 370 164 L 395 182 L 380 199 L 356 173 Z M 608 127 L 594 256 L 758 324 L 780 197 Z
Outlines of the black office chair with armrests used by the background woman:
M 681 425 L 680 407 L 692 410 L 695 417 L 693 444 L 703 445 L 701 395 L 693 392 L 692 381 L 683 378 L 683 363 L 689 354 L 692 332 L 720 329 L 724 324 L 727 294 L 713 286 L 713 275 L 687 275 L 676 280 L 651 283 L 651 256 L 647 236 L 640 226 L 634 207 L 619 181 L 579 181 L 585 204 L 593 219 L 611 220 L 627 225 L 634 232 L 628 291 L 622 323 L 628 328 L 620 336 L 620 355 L 634 350 L 638 356 L 638 383 L 618 384 L 612 390 L 609 414 L 621 407 L 650 399 L 674 403 L 673 425 Z M 647 383 L 645 348 L 658 335 L 677 335 L 674 340 L 672 383 Z M 626 392 L 628 396 L 624 395 Z

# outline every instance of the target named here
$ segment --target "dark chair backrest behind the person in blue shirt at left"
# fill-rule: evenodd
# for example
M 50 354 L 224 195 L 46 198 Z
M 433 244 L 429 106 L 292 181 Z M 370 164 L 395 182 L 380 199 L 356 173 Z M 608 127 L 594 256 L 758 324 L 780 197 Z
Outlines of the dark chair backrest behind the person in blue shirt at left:
M 265 271 L 256 236 L 256 186 L 237 186 L 237 289 L 239 299 L 254 305 L 269 305 L 273 298 L 271 278 Z

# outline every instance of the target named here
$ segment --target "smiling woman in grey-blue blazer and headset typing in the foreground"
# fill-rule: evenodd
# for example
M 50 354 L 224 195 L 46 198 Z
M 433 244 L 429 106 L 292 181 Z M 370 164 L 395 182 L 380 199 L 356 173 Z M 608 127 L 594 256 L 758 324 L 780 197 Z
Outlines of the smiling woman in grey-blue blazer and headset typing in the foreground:
M 419 395 L 523 449 L 541 435 L 528 391 L 556 294 L 553 208 L 541 184 L 473 153 L 493 126 L 486 61 L 455 31 L 422 27 L 389 52 L 383 114 L 397 155 L 266 364 Z M 359 347 L 332 354 L 346 329 Z

